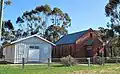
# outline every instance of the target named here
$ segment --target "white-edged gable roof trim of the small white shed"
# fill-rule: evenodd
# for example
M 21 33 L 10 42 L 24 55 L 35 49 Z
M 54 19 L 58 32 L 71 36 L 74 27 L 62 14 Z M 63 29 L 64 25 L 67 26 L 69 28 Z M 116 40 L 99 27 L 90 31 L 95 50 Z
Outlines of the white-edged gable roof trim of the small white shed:
M 52 43 L 52 42 L 50 42 L 50 41 L 48 41 L 48 40 L 46 40 L 46 39 L 44 39 L 44 38 L 42 38 L 42 37 L 40 37 L 38 35 L 32 35 L 32 36 L 28 36 L 28 37 L 25 37 L 25 38 L 21 38 L 21 39 L 18 39 L 16 41 L 11 42 L 10 44 L 14 44 L 14 43 L 17 43 L 17 42 L 20 42 L 20 41 L 23 41 L 23 40 L 26 40 L 26 39 L 29 39 L 29 38 L 32 38 L 32 37 L 37 37 L 37 38 L 39 38 L 39 39 L 41 39 L 41 40 L 55 46 L 54 43 Z

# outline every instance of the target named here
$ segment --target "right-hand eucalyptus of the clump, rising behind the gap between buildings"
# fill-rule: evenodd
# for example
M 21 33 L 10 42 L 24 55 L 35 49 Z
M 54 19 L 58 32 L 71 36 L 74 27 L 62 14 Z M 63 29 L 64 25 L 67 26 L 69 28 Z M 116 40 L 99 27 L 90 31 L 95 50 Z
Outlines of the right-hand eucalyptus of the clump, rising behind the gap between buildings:
M 54 8 L 51 12 L 52 25 L 50 25 L 46 32 L 45 37 L 56 42 L 62 35 L 68 33 L 67 29 L 71 26 L 71 19 L 67 13 L 63 13 L 59 8 Z

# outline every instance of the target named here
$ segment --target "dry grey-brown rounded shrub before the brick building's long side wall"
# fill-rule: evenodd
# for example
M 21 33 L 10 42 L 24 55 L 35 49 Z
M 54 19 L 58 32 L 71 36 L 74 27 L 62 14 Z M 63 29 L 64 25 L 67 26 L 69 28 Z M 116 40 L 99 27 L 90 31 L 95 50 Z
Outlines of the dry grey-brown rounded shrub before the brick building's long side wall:
M 60 59 L 61 63 L 64 66 L 73 66 L 73 65 L 77 65 L 77 60 L 75 60 L 72 56 L 68 55 L 66 57 L 62 57 Z

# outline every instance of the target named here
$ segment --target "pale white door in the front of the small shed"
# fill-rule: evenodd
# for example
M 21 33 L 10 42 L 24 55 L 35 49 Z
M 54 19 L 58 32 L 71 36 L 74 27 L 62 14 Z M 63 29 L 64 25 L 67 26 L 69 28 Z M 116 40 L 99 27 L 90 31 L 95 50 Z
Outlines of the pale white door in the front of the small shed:
M 39 62 L 39 49 L 28 50 L 28 62 Z

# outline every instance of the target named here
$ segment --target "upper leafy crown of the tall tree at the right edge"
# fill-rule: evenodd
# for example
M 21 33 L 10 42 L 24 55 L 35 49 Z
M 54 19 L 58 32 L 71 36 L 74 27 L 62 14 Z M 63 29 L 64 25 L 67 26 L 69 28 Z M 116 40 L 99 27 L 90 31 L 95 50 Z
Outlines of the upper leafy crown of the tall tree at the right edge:
M 109 0 L 105 6 L 105 12 L 110 18 L 109 26 L 120 34 L 120 0 Z

